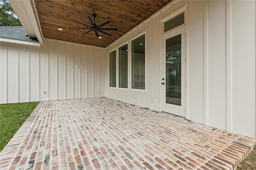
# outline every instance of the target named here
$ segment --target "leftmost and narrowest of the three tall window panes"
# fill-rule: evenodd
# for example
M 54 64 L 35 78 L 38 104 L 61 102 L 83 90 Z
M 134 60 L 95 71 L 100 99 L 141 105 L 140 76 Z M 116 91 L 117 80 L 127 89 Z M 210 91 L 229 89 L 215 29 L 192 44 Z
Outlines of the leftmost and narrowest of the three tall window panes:
M 116 87 L 116 50 L 109 53 L 109 87 Z

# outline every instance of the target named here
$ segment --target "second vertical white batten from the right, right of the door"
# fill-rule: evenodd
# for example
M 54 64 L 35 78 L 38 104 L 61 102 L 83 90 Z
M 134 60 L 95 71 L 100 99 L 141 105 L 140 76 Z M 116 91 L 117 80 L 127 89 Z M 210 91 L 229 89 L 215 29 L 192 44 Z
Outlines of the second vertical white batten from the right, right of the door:
M 208 125 L 208 1 L 204 1 L 204 125 Z

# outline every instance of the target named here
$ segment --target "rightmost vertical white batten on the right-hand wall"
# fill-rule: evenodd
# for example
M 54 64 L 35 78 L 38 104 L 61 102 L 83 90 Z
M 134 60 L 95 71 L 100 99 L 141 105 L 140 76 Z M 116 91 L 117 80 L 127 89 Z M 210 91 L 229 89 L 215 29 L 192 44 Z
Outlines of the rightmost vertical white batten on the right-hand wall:
M 226 0 L 226 130 L 231 131 L 231 0 Z

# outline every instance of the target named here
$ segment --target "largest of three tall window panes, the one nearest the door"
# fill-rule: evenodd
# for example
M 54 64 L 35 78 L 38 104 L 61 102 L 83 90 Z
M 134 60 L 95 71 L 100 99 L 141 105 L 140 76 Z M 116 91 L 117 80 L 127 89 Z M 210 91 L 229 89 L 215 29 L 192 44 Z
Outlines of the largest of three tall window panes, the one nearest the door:
M 145 89 L 145 34 L 132 40 L 132 89 Z

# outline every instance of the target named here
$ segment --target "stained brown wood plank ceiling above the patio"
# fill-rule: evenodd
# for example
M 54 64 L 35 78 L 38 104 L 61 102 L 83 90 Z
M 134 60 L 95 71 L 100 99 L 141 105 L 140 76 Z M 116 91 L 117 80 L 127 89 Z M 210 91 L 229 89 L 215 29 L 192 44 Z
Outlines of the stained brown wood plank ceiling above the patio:
M 160 8 L 172 0 L 35 0 L 40 25 L 44 38 L 83 43 L 98 47 L 106 47 L 120 38 L 123 34 L 146 20 Z M 87 16 L 97 14 L 96 25 L 108 20 L 110 24 L 102 28 L 117 28 L 118 31 L 108 30 L 108 36 L 94 31 L 82 35 L 88 28 L 72 20 L 91 26 Z M 59 31 L 58 28 L 62 28 Z

